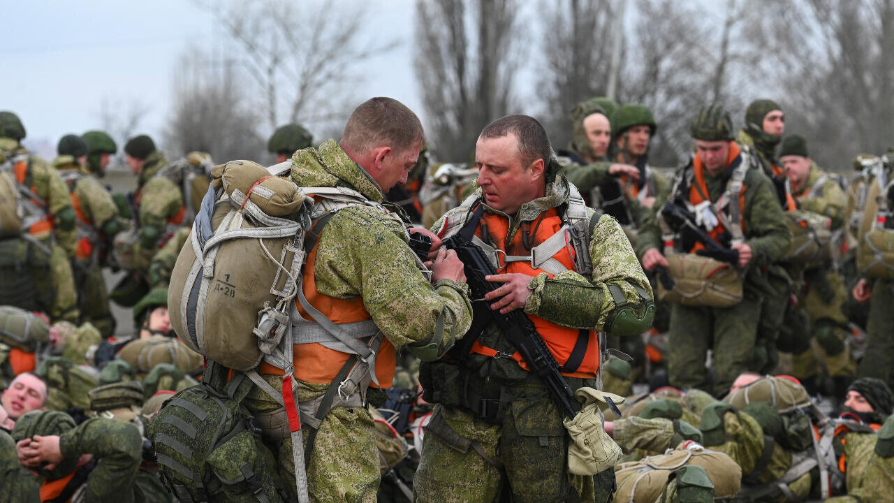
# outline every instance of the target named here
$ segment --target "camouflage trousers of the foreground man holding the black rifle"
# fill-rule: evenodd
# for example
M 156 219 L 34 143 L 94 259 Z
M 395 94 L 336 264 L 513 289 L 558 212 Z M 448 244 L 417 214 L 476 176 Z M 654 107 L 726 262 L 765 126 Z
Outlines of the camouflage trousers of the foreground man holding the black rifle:
M 506 407 L 502 424 L 491 424 L 459 407 L 435 406 L 413 479 L 417 502 L 490 503 L 504 490 L 517 503 L 611 499 L 613 476 L 595 487 L 594 477 L 568 472 L 568 439 L 549 396 Z

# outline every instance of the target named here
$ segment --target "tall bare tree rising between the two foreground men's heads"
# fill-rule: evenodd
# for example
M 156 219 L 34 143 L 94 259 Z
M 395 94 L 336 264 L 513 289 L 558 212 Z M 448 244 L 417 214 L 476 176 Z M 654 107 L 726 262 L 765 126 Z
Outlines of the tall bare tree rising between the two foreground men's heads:
M 440 158 L 470 158 L 477 133 L 510 110 L 518 12 L 517 0 L 417 2 L 414 66 Z

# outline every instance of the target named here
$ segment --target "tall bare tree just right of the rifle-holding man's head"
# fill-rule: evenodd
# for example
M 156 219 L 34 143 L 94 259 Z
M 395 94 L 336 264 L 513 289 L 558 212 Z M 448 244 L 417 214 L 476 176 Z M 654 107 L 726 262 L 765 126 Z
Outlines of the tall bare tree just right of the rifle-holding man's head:
M 561 0 L 541 4 L 544 37 L 539 72 L 544 127 L 556 147 L 571 139 L 569 113 L 580 101 L 608 88 L 611 31 L 616 12 L 610 0 Z

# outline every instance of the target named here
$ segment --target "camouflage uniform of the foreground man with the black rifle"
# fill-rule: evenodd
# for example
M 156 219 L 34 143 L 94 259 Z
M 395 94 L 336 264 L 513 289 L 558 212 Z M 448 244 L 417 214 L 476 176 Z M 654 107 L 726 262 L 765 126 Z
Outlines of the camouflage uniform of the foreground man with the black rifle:
M 547 183 L 544 197 L 523 204 L 510 219 L 507 241 L 523 222 L 567 204 L 569 190 L 567 180 L 556 175 Z M 476 194 L 480 198 L 480 191 Z M 485 210 L 504 216 L 486 205 Z M 468 213 L 465 207 L 452 209 L 433 229 L 441 229 L 446 221 L 464 222 Z M 532 277 L 524 311 L 561 327 L 611 331 L 606 320 L 626 303 L 651 309 L 651 287 L 614 218 L 603 216 L 596 221 L 589 252 L 593 277 L 572 270 L 552 278 L 545 273 Z M 612 296 L 612 290 L 618 297 Z M 496 348 L 498 356 L 515 351 L 493 323 L 477 340 Z M 595 377 L 565 379 L 571 389 L 595 388 Z M 595 478 L 569 473 L 564 413 L 540 378 L 511 358 L 469 354 L 461 366 L 448 359 L 424 363 L 420 380 L 426 401 L 438 405 L 426 429 L 413 481 L 418 501 L 495 501 L 506 484 L 514 501 L 558 501 L 573 499 L 576 493 L 584 501 L 608 497 L 605 490 L 611 487 L 611 473 L 608 488 L 605 473 Z M 471 394 L 498 398 L 502 413 L 490 419 L 473 413 L 465 398 Z

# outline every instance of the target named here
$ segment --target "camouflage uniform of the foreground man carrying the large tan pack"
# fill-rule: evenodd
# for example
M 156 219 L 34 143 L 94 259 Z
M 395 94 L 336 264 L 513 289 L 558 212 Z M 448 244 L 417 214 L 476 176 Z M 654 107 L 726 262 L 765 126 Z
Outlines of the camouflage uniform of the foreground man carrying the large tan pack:
M 292 156 L 291 179 L 302 187 L 349 187 L 369 200 L 383 200 L 378 184 L 332 140 L 319 149 L 296 152 Z M 441 338 L 432 341 L 443 354 L 471 324 L 468 286 L 447 279 L 434 286 L 426 281 L 404 241 L 404 232 L 404 226 L 381 209 L 341 209 L 326 224 L 316 244 L 316 289 L 336 299 L 362 298 L 375 325 L 397 349 L 422 351 L 426 341 L 434 337 L 435 326 L 443 320 Z M 283 389 L 280 376 L 263 377 L 277 391 Z M 329 386 L 298 381 L 296 402 L 323 396 Z M 249 393 L 245 403 L 253 413 L 279 407 L 258 388 Z M 306 444 L 308 430 L 302 429 Z M 317 431 L 307 466 L 311 500 L 375 502 L 379 461 L 374 422 L 367 409 L 335 406 Z M 269 447 L 278 456 L 283 479 L 293 481 L 291 438 Z

